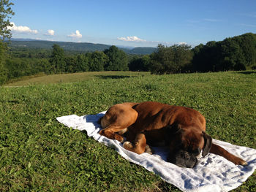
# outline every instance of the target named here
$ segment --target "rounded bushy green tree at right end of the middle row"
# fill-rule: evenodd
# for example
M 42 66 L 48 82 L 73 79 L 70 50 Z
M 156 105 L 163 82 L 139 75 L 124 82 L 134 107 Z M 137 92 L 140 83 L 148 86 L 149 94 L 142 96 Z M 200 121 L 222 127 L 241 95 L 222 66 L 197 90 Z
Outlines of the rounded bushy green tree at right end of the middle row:
M 123 50 L 119 50 L 116 46 L 111 46 L 104 53 L 108 56 L 108 63 L 105 66 L 106 71 L 127 71 L 128 58 Z

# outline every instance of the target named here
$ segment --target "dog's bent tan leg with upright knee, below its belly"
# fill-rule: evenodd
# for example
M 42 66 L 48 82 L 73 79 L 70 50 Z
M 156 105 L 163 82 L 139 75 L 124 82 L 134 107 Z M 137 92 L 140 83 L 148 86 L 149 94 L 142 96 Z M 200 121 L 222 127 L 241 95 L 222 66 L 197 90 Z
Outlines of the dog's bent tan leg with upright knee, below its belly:
M 124 142 L 123 147 L 134 153 L 144 153 L 146 149 L 146 137 L 145 134 L 137 134 L 134 143 Z

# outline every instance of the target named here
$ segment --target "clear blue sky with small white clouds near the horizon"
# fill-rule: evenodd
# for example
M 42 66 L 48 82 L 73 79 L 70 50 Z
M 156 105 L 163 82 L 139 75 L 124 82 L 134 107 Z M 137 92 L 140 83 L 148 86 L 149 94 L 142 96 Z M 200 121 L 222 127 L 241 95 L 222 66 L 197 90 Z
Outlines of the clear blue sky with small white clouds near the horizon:
M 12 37 L 132 47 L 256 34 L 255 0 L 12 0 Z

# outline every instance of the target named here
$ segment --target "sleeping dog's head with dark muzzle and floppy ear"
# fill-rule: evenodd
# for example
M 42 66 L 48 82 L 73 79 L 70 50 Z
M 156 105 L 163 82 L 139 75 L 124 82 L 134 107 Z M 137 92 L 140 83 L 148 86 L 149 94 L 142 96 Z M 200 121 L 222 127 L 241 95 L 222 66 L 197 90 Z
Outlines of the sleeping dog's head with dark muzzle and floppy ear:
M 211 137 L 200 128 L 170 128 L 167 134 L 170 154 L 167 161 L 177 166 L 192 168 L 197 158 L 206 156 L 211 149 Z

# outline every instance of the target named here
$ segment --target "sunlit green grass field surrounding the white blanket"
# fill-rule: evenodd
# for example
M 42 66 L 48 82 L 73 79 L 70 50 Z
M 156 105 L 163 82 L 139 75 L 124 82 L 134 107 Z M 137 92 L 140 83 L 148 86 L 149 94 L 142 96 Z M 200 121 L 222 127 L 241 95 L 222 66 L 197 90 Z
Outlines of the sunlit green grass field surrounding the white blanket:
M 23 86 L 24 87 L 10 87 Z M 124 101 L 160 101 L 205 115 L 215 139 L 256 148 L 256 72 L 42 76 L 0 88 L 0 191 L 178 191 L 83 131 L 56 121 Z M 234 191 L 255 191 L 256 173 Z

